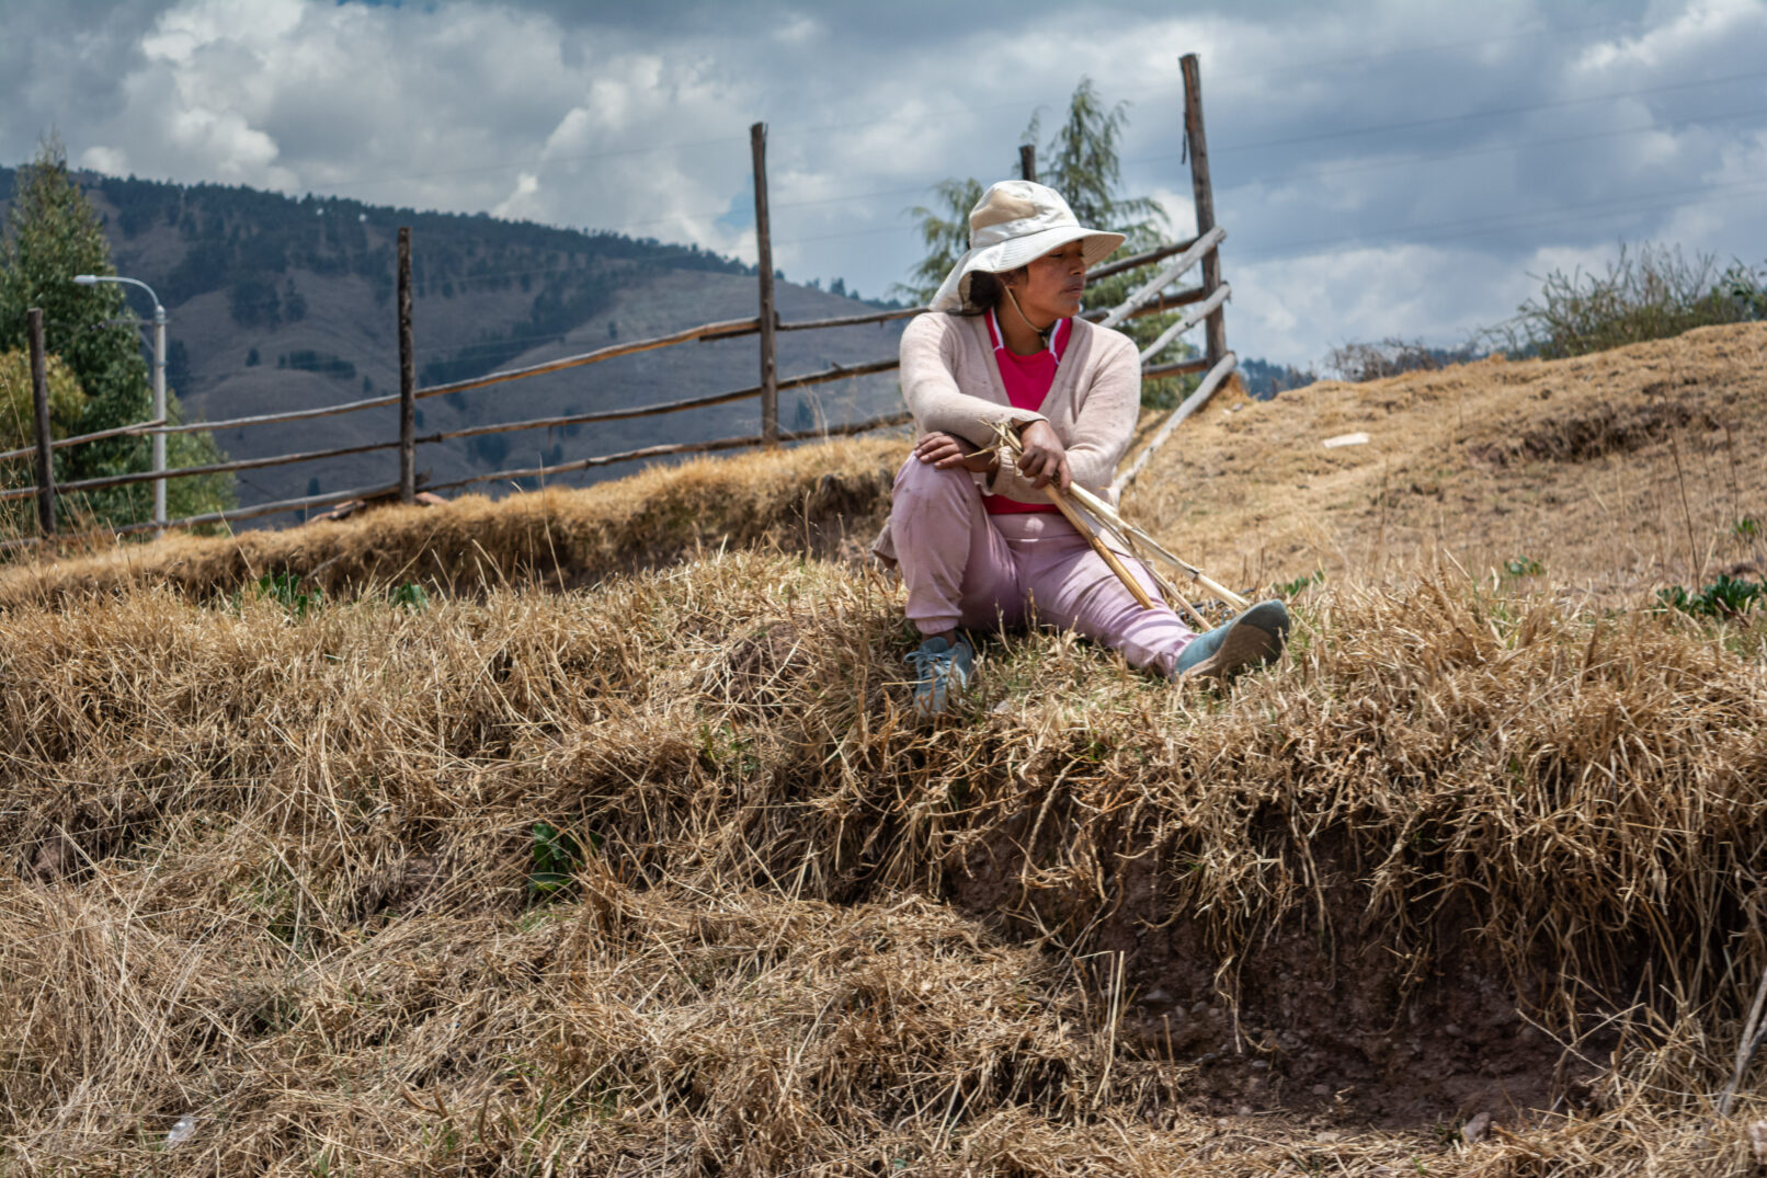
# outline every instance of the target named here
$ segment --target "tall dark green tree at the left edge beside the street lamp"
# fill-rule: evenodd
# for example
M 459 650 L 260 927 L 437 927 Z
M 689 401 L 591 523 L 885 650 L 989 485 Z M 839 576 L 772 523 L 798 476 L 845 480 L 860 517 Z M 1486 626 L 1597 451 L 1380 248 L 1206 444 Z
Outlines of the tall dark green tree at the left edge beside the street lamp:
M 115 270 L 99 215 L 69 173 L 65 150 L 51 136 L 37 157 L 19 168 L 0 237 L 0 351 L 28 346 L 27 311 L 42 307 L 44 348 L 62 359 L 87 396 L 76 433 L 147 420 L 152 415 L 152 383 L 124 291 L 115 283 L 76 286 L 76 274 L 108 276 Z M 166 392 L 166 413 L 171 420 L 182 419 L 171 390 Z M 221 461 L 221 450 L 209 433 L 171 434 L 166 440 L 168 466 L 216 461 Z M 57 456 L 57 480 L 67 482 L 150 468 L 147 438 L 106 438 Z M 233 502 L 228 475 L 166 484 L 166 509 L 173 517 Z M 152 484 L 95 491 L 67 507 L 85 509 L 106 525 L 138 523 L 152 516 Z

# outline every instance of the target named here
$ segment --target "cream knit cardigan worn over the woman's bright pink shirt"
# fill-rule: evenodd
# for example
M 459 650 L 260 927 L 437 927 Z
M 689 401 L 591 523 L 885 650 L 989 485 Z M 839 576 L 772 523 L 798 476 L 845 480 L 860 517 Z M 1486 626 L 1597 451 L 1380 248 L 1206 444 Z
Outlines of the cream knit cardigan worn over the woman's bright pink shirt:
M 1055 369 L 1043 408 L 1012 408 L 1000 380 L 984 316 L 917 314 L 901 334 L 901 396 L 914 413 L 917 436 L 949 433 L 977 447 L 993 445 L 991 422 L 1046 420 L 1067 447 L 1074 482 L 1110 496 L 1117 463 L 1134 434 L 1141 408 L 1141 360 L 1122 332 L 1073 320 L 1073 339 Z M 975 475 L 982 495 L 1041 503 L 1043 491 L 1011 463 Z M 871 546 L 896 563 L 889 523 Z

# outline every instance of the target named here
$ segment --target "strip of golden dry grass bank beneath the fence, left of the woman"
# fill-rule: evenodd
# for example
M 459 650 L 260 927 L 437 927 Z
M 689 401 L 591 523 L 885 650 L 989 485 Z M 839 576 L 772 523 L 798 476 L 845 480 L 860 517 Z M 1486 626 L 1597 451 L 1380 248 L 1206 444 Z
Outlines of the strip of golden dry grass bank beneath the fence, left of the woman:
M 889 512 L 901 449 L 899 438 L 830 442 L 652 466 L 580 491 L 466 495 L 445 510 L 387 507 L 341 523 L 173 535 L 152 546 L 88 542 L 60 560 L 0 569 L 0 606 L 125 585 L 207 597 L 265 574 L 292 574 L 334 597 L 401 581 L 449 593 L 511 583 L 574 590 L 701 549 L 857 555 Z

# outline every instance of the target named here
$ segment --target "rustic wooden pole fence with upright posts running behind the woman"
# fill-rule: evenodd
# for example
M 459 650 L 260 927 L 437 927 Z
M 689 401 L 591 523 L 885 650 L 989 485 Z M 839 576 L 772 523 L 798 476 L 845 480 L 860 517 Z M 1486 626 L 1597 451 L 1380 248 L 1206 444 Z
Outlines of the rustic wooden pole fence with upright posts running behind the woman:
M 1143 380 L 1157 380 L 1163 376 L 1189 374 L 1189 373 L 1207 373 L 1203 381 L 1198 385 L 1184 404 L 1180 404 L 1168 420 L 1156 433 L 1154 440 L 1147 449 L 1136 457 L 1134 464 L 1119 480 L 1119 489 L 1127 486 L 1134 475 L 1147 464 L 1152 452 L 1172 434 L 1172 429 L 1200 408 L 1209 396 L 1232 374 L 1237 360 L 1233 353 L 1226 351 L 1225 346 L 1225 328 L 1221 327 L 1221 309 L 1223 304 L 1232 297 L 1232 288 L 1221 281 L 1221 263 L 1219 263 L 1219 245 L 1226 238 L 1226 230 L 1214 223 L 1214 200 L 1209 187 L 1207 171 L 1207 145 L 1203 140 L 1202 127 L 1202 97 L 1200 97 L 1200 76 L 1196 67 L 1196 57 L 1186 55 L 1180 62 L 1184 72 L 1184 90 L 1186 90 L 1186 115 L 1184 131 L 1186 143 L 1191 155 L 1191 180 L 1196 193 L 1196 224 L 1198 233 L 1184 242 L 1173 242 L 1170 245 L 1161 245 L 1120 261 L 1111 261 L 1108 265 L 1096 267 L 1088 272 L 1092 279 L 1104 279 L 1117 274 L 1127 274 L 1143 267 L 1159 267 L 1157 272 L 1145 283 L 1141 283 L 1122 304 L 1115 307 L 1099 307 L 1085 311 L 1087 320 L 1097 321 L 1104 327 L 1115 327 L 1131 318 L 1163 314 L 1175 311 L 1179 307 L 1191 307 L 1175 323 L 1166 327 L 1147 348 L 1141 350 L 1141 376 Z M 800 330 L 820 330 L 836 327 L 859 327 L 866 323 L 889 323 L 892 320 L 908 318 L 921 314 L 926 307 L 898 307 L 889 311 L 875 311 L 868 314 L 848 314 L 822 320 L 802 320 L 797 323 L 783 323 L 777 311 L 774 309 L 772 298 L 772 254 L 770 254 L 770 226 L 767 210 L 767 173 L 765 173 L 765 155 L 767 155 L 767 127 L 765 124 L 755 124 L 749 129 L 749 140 L 753 148 L 755 164 L 755 214 L 756 214 L 756 237 L 758 237 L 758 314 L 742 320 L 723 320 L 716 323 L 701 323 L 698 327 L 689 327 L 679 332 L 670 332 L 664 336 L 654 336 L 648 339 L 634 339 L 620 344 L 610 344 L 606 348 L 595 348 L 592 351 L 560 357 L 557 360 L 546 360 L 541 364 L 530 364 L 514 369 L 500 369 L 495 373 L 486 373 L 482 376 L 474 376 L 468 380 L 447 381 L 442 385 L 429 385 L 424 389 L 415 387 L 413 355 L 415 348 L 412 343 L 412 286 L 410 286 L 410 230 L 399 230 L 399 253 L 398 253 L 398 318 L 399 318 L 399 392 L 378 397 L 362 397 L 357 401 L 345 401 L 339 404 L 316 406 L 307 410 L 286 410 L 272 413 L 256 413 L 249 417 L 233 417 L 212 422 L 166 422 L 152 420 L 140 422 L 133 426 L 120 426 L 117 429 L 104 429 L 92 434 L 81 434 L 78 438 L 62 438 L 60 442 L 48 442 L 48 404 L 46 396 L 39 392 L 37 401 L 42 401 L 37 408 L 37 445 L 19 450 L 7 450 L 0 454 L 0 461 L 19 459 L 37 454 L 39 473 L 35 486 L 18 487 L 0 491 L 0 502 L 21 500 L 35 496 L 39 500 L 39 517 L 42 525 L 44 537 L 55 533 L 55 496 L 78 491 L 97 491 L 108 487 L 134 486 L 140 482 L 150 482 L 157 479 L 189 479 L 200 475 L 230 473 L 240 470 L 260 470 L 265 466 L 283 466 L 292 463 L 309 463 L 329 457 L 345 457 L 352 454 L 369 454 L 376 450 L 399 450 L 399 482 L 383 487 L 360 487 L 353 491 L 336 491 L 327 495 L 309 495 L 302 498 L 277 500 L 274 503 L 258 503 L 253 507 L 228 509 L 217 512 L 205 512 L 200 516 L 187 516 L 184 519 L 170 521 L 170 526 L 191 526 L 207 523 L 230 523 L 237 519 L 254 519 L 260 516 L 279 514 L 286 510 L 300 510 L 309 507 L 323 507 L 330 503 L 341 503 L 353 498 L 369 498 L 387 493 L 398 493 L 401 500 L 412 502 L 415 489 L 421 482 L 415 472 L 415 449 L 419 445 L 435 445 L 440 442 L 449 442 L 456 438 L 475 438 L 495 433 L 512 433 L 521 429 L 555 429 L 564 426 L 580 426 L 592 422 L 611 422 L 626 420 L 634 417 L 654 417 L 663 413 L 679 413 L 682 410 L 709 408 L 717 404 L 728 404 L 733 401 L 742 401 L 747 397 L 760 397 L 762 401 L 762 431 L 755 436 L 746 438 L 719 438 L 712 442 L 684 442 L 670 445 L 654 445 L 636 450 L 624 450 L 618 454 L 601 454 L 595 457 L 574 459 L 569 463 L 557 463 L 551 466 L 534 466 L 523 470 L 500 470 L 486 475 L 472 475 L 468 479 L 458 479 L 452 482 L 436 484 L 429 489 L 452 489 L 472 486 L 479 482 L 495 480 L 519 480 L 519 479 L 546 479 L 551 475 L 562 475 L 571 472 L 592 470 L 597 466 L 610 466 L 624 461 L 641 461 L 648 457 L 663 457 L 673 454 L 705 454 L 717 450 L 746 449 L 755 445 L 774 447 L 783 442 L 804 442 L 809 438 L 823 436 L 850 436 L 857 433 L 866 433 L 869 429 L 882 429 L 889 426 L 899 426 L 908 420 L 906 413 L 894 413 L 887 417 L 876 417 L 864 422 L 853 422 L 846 426 L 838 426 L 832 429 L 818 431 L 799 431 L 799 433 L 781 433 L 777 420 L 777 394 L 790 389 L 804 389 L 809 385 L 818 385 L 834 380 L 850 380 L 855 376 L 866 376 L 875 373 L 887 373 L 898 367 L 894 357 L 873 360 L 855 366 L 832 366 L 816 373 L 804 373 L 799 376 L 779 378 L 774 367 L 776 346 L 774 337 L 779 332 L 800 332 Z M 1021 171 L 1027 178 L 1035 175 L 1035 154 L 1030 148 L 1023 148 L 1020 154 Z M 1202 263 L 1203 277 L 1198 286 L 1187 290 L 1177 290 L 1166 293 L 1179 277 L 1187 274 L 1193 267 Z M 41 325 L 41 313 L 32 311 L 35 316 L 34 325 Z M 1163 350 L 1172 346 L 1179 336 L 1191 330 L 1198 323 L 1207 325 L 1209 348 L 1203 357 L 1177 360 L 1172 364 L 1149 364 Z M 762 366 L 760 366 L 760 383 L 746 389 L 732 389 L 726 392 L 716 392 L 698 397 L 682 397 L 679 401 L 663 401 L 656 404 L 615 408 L 615 410 L 595 410 L 587 413 L 567 413 L 557 417 L 539 417 L 518 422 L 495 422 L 484 426 L 470 426 L 465 429 L 436 431 L 428 434 L 417 434 L 415 431 L 415 410 L 413 404 L 426 397 L 440 397 L 454 392 L 468 392 L 475 389 L 486 389 L 491 385 L 500 385 L 514 380 L 527 380 L 530 376 L 544 376 L 550 373 L 571 371 L 588 364 L 599 364 L 603 360 L 613 360 L 617 357 L 636 355 L 641 351 L 652 351 L 656 348 L 670 348 L 684 343 L 712 343 L 717 339 L 735 339 L 740 336 L 762 337 Z M 41 327 L 39 327 L 41 336 Z M 34 337 L 34 376 L 35 369 L 41 366 L 41 341 Z M 41 385 L 42 381 L 34 381 Z M 201 466 L 184 466 L 178 470 L 166 472 L 143 472 L 127 475 L 104 475 L 95 479 L 81 479 L 76 482 L 67 482 L 55 486 L 53 470 L 48 466 L 48 456 L 51 449 L 64 449 L 71 445 L 80 445 L 85 442 L 99 442 L 102 438 L 124 436 L 124 434 L 175 434 L 175 433 L 194 433 L 194 431 L 217 431 L 217 429 L 244 429 L 254 426 L 270 426 L 293 420 L 311 420 L 320 417 L 336 417 L 341 413 L 357 413 L 362 410 L 399 406 L 399 436 L 392 442 L 371 442 L 360 445 L 332 447 L 325 450 L 306 450 L 295 454 L 276 454 L 265 457 L 237 459 L 226 463 L 207 463 Z M 129 525 L 115 530 L 115 533 L 133 533 L 155 530 L 168 525 Z M 35 542 L 35 540 L 27 540 Z M 18 544 L 7 542 L 0 547 L 11 547 Z

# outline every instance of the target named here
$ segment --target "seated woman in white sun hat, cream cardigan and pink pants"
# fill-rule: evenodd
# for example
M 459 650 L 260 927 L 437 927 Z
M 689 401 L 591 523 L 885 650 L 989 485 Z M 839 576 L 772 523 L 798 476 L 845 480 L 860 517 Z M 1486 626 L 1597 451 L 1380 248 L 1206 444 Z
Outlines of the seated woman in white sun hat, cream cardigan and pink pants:
M 958 627 L 1018 627 L 1032 602 L 1037 622 L 1166 678 L 1226 676 L 1281 652 L 1279 600 L 1196 634 L 1161 602 L 1147 567 L 1120 553 L 1154 602 L 1141 606 L 1044 489 L 1078 484 L 1108 502 L 1134 433 L 1136 348 L 1080 318 L 1087 267 L 1122 242 L 1083 228 L 1055 189 L 995 184 L 970 212 L 968 253 L 903 332 L 901 389 L 919 442 L 873 551 L 908 588 L 922 712 L 944 712 L 970 680 L 974 652 Z M 1005 463 L 1002 431 L 1020 450 Z

